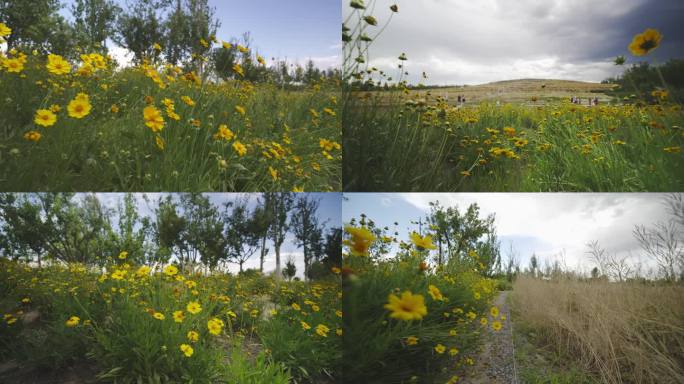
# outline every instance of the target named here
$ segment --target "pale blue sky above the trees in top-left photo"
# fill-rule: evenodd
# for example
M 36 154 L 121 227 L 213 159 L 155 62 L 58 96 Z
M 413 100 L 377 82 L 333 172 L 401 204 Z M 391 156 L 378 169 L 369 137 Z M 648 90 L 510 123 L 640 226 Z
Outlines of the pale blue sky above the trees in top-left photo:
M 115 2 L 126 4 L 126 0 Z M 65 7 L 61 14 L 67 18 L 72 3 L 62 0 Z M 216 9 L 215 18 L 221 22 L 218 39 L 229 41 L 250 32 L 252 47 L 264 57 L 302 64 L 311 58 L 320 68 L 339 65 L 339 0 L 209 0 L 209 5 Z M 119 62 L 130 61 L 120 47 L 112 54 Z

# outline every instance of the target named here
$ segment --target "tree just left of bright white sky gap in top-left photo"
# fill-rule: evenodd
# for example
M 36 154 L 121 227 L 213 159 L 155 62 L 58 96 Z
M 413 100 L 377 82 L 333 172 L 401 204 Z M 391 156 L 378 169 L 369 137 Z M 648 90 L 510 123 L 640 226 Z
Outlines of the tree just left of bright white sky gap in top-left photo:
M 107 38 L 112 36 L 117 14 L 121 11 L 112 0 L 75 0 L 71 5 L 75 39 L 87 51 L 106 53 Z

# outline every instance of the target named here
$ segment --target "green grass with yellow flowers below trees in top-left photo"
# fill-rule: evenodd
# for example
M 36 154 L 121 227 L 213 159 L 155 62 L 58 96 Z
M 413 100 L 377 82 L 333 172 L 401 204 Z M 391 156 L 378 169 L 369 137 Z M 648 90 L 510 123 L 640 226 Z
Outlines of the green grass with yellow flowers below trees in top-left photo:
M 46 70 L 45 58 L 28 56 L 21 73 L 0 70 L 0 189 L 341 188 L 335 80 L 287 90 L 247 80 L 200 81 L 163 63 L 124 70 L 107 63 L 90 75 L 55 75 Z M 67 111 L 78 93 L 87 94 L 92 104 L 83 118 Z M 145 125 L 146 107 L 162 113 L 158 132 Z M 41 109 L 54 111 L 53 125 L 34 121 Z M 218 136 L 221 126 L 232 134 Z M 28 140 L 29 132 L 41 136 Z

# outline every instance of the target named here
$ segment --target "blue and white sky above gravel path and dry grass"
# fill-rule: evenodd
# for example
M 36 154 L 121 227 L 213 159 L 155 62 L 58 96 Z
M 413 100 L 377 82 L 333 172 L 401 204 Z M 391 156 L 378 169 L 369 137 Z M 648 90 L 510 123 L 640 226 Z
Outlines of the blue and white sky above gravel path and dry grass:
M 412 224 L 429 213 L 429 203 L 456 206 L 463 212 L 471 203 L 480 206 L 481 216 L 495 214 L 501 251 L 508 257 L 510 246 L 521 267 L 529 266 L 533 253 L 553 263 L 564 254 L 569 269 L 587 273 L 594 267 L 586 244 L 598 241 L 608 253 L 630 256 L 634 265 L 654 266 L 645 256 L 632 230 L 668 221 L 666 194 L 657 193 L 345 193 L 342 220 L 348 223 L 365 213 L 380 227 L 396 228 L 399 239 L 418 231 Z M 424 221 L 424 220 L 423 220 Z M 399 226 L 395 227 L 394 222 Z

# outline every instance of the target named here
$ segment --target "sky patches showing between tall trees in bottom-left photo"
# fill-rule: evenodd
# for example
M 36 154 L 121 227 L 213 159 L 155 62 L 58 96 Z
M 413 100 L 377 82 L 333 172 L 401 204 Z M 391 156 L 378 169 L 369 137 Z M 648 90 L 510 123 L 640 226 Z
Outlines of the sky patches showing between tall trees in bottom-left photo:
M 117 204 L 123 198 L 123 193 L 96 193 L 95 194 L 100 202 L 109 208 L 115 209 Z M 137 201 L 138 212 L 141 216 L 154 217 L 153 212 L 157 207 L 157 201 L 160 197 L 168 195 L 167 193 L 146 193 L 147 202 L 143 198 L 142 193 L 135 193 L 134 197 Z M 179 198 L 179 194 L 172 194 Z M 256 206 L 257 199 L 260 194 L 258 193 L 207 193 L 205 194 L 209 197 L 209 200 L 215 205 L 221 207 L 225 202 L 235 201 L 237 199 L 245 198 L 247 199 L 247 206 L 253 209 Z M 342 197 L 340 193 L 307 193 L 310 197 L 314 199 L 320 199 L 320 206 L 318 209 L 318 218 L 320 223 L 325 223 L 326 228 L 341 227 L 342 226 Z M 84 195 L 77 194 L 76 198 L 81 199 Z M 113 223 L 116 225 L 116 223 Z M 269 253 L 264 260 L 264 270 L 266 272 L 271 272 L 275 269 L 275 252 L 273 250 L 273 244 L 269 241 L 267 242 L 267 247 L 269 248 Z M 285 242 L 280 248 L 280 258 L 281 266 L 284 267 L 285 262 L 288 257 L 292 257 L 295 265 L 297 267 L 297 276 L 302 277 L 304 272 L 304 255 L 302 250 L 299 249 L 294 240 L 294 236 L 288 233 Z M 250 258 L 243 266 L 247 268 L 259 268 L 259 251 L 257 251 L 252 258 Z M 237 264 L 230 264 L 229 270 L 231 272 L 237 272 L 239 267 Z

